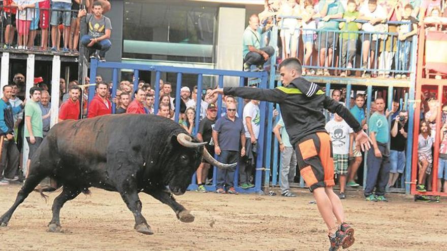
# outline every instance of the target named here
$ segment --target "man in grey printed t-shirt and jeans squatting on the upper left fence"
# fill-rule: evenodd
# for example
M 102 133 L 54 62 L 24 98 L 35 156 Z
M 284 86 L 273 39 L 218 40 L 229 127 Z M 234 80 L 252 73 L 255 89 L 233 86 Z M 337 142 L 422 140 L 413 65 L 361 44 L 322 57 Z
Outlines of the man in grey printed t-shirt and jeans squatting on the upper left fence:
M 106 52 L 112 46 L 109 40 L 112 30 L 110 19 L 103 16 L 103 6 L 100 2 L 93 3 L 93 14 L 80 10 L 78 19 L 83 16 L 88 24 L 88 34 L 82 36 L 81 43 L 87 47 L 89 57 L 95 57 L 94 53 L 99 50 L 100 61 L 106 61 Z

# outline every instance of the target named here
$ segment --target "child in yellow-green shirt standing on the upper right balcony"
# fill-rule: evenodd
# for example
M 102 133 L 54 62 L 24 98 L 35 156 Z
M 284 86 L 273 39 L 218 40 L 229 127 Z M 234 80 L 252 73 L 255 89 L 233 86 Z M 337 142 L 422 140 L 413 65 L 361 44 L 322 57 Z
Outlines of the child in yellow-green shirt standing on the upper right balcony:
M 356 56 L 356 46 L 357 46 L 357 32 L 362 27 L 360 23 L 354 22 L 360 14 L 357 10 L 357 5 L 354 0 L 349 0 L 347 2 L 347 10 L 343 14 L 343 19 L 346 22 L 341 22 L 339 24 L 340 30 L 346 31 L 341 33 L 341 67 L 345 68 L 347 63 L 353 64 L 353 59 Z M 346 77 L 346 72 L 343 71 L 340 77 Z

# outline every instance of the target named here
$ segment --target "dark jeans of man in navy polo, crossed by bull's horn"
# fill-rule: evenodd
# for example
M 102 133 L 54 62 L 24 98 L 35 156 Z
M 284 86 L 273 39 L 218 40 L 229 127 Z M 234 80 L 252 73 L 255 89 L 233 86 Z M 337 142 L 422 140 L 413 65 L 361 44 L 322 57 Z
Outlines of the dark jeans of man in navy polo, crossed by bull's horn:
M 227 151 L 222 150 L 219 156 L 219 161 L 223 164 L 231 164 L 236 163 L 239 160 L 239 151 Z M 226 187 L 231 188 L 234 187 L 234 172 L 236 171 L 236 167 L 228 168 L 228 169 L 220 169 L 217 168 L 217 183 L 216 189 L 223 188 L 224 185 Z

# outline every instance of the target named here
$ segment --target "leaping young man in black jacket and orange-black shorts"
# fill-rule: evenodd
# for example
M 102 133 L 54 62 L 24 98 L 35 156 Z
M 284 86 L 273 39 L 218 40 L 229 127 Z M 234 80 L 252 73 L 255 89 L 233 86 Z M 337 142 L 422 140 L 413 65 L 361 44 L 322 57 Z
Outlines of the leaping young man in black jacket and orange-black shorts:
M 214 89 L 208 95 L 217 93 L 279 103 L 286 131 L 297 152 L 301 175 L 328 226 L 330 250 L 338 250 L 340 246 L 347 248 L 354 243 L 354 229 L 344 222 L 343 206 L 332 190 L 334 162 L 331 139 L 325 130 L 326 119 L 321 111 L 327 109 L 341 116 L 356 132 L 356 142 L 362 151 L 371 147 L 371 139 L 343 104 L 327 97 L 316 84 L 301 78 L 302 68 L 298 59 L 285 59 L 278 68 L 281 87 L 270 90 L 226 87 Z

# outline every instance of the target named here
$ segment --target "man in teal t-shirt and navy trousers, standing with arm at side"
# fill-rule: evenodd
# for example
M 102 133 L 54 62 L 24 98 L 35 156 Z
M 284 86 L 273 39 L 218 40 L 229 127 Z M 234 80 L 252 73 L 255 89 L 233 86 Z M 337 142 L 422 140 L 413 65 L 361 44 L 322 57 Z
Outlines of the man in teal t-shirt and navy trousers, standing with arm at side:
M 366 180 L 365 197 L 367 201 L 384 201 L 385 188 L 390 176 L 390 152 L 388 140 L 390 129 L 388 119 L 384 115 L 385 100 L 382 97 L 375 100 L 376 111 L 369 118 L 369 136 L 372 140 L 372 148 L 368 152 L 368 174 Z M 372 193 L 375 188 L 375 195 Z

